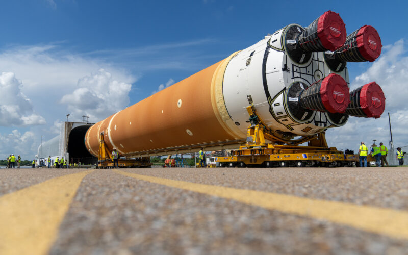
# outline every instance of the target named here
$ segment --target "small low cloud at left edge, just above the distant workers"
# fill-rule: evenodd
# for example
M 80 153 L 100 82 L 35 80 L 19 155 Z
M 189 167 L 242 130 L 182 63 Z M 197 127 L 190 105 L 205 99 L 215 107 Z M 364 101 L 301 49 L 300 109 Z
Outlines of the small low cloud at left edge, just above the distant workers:
M 0 155 L 21 155 L 23 160 L 32 160 L 33 151 L 36 151 L 34 140 L 34 133 L 31 131 L 21 134 L 18 130 L 13 130 L 9 134 L 0 134 L 0 144 L 6 145 L 0 146 Z

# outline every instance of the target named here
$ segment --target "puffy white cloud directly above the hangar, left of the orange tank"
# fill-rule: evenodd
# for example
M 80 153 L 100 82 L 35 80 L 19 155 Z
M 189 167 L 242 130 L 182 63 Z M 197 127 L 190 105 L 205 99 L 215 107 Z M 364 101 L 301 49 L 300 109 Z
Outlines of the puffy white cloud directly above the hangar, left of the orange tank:
M 78 81 L 77 89 L 62 97 L 73 115 L 89 115 L 91 119 L 103 119 L 122 110 L 129 104 L 132 85 L 121 82 L 112 74 L 99 69 L 96 73 Z

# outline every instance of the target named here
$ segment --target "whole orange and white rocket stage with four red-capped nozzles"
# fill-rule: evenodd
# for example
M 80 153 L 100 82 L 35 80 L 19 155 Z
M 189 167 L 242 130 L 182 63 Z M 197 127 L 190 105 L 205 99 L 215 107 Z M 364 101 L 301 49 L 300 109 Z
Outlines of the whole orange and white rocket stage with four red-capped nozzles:
M 373 27 L 347 36 L 339 14 L 327 11 L 99 121 L 85 145 L 97 157 L 103 135 L 109 150 L 127 158 L 237 148 L 246 139 L 247 106 L 283 141 L 340 127 L 349 116 L 379 118 L 384 93 L 375 82 L 350 92 L 347 62 L 372 62 L 381 47 Z

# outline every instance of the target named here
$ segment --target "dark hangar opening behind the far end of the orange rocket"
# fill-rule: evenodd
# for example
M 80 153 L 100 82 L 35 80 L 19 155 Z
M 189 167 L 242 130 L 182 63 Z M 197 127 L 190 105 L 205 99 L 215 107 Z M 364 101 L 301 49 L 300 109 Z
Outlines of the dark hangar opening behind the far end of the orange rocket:
M 81 162 L 81 165 L 96 164 L 98 159 L 91 155 L 85 146 L 85 133 L 91 125 L 74 127 L 68 136 L 67 152 L 69 163 Z

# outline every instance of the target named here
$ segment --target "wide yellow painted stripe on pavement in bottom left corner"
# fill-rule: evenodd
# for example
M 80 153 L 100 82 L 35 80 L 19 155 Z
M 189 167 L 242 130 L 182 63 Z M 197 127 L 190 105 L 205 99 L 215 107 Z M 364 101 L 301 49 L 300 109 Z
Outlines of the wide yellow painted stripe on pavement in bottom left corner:
M 90 172 L 57 177 L 0 197 L 0 254 L 47 253 Z

